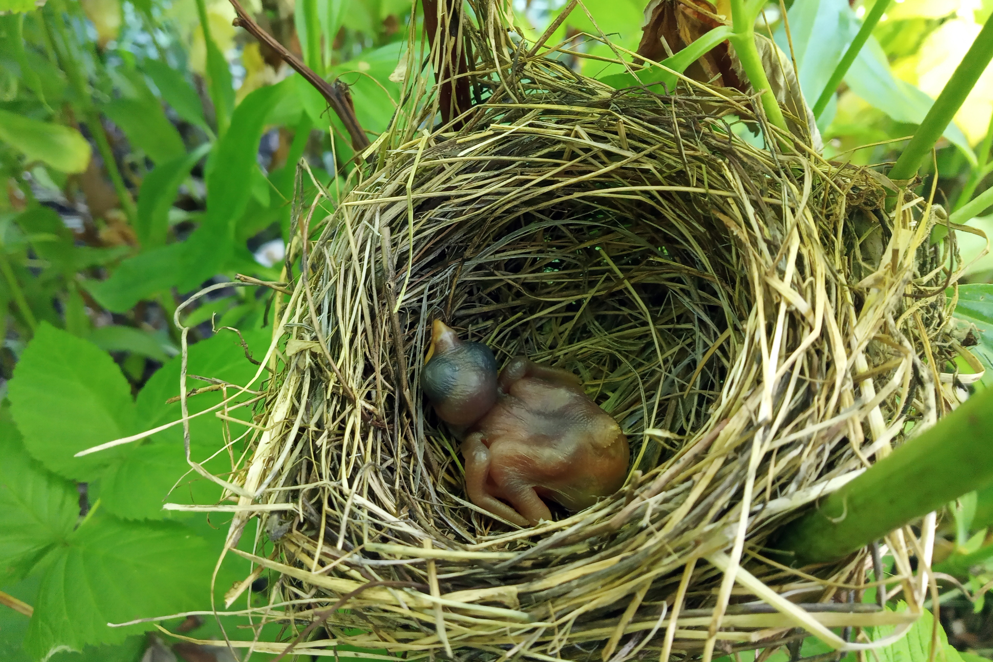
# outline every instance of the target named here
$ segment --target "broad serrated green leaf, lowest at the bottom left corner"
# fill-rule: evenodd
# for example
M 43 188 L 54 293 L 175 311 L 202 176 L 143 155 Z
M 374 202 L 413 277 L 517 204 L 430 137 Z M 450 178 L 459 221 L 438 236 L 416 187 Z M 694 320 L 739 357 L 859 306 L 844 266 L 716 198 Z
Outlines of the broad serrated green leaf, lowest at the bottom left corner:
M 48 560 L 24 648 L 42 658 L 60 646 L 120 643 L 152 623 L 108 627 L 202 607 L 215 556 L 172 522 L 122 522 L 96 512 Z

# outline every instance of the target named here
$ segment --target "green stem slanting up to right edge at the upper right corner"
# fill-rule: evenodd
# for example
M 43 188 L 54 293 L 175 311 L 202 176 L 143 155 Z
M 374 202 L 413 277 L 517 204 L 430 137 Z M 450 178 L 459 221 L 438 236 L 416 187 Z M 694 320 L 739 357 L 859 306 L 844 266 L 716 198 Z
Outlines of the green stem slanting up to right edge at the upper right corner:
M 891 180 L 909 180 L 918 174 L 923 160 L 930 154 L 934 143 L 958 112 L 965 97 L 972 91 L 979 76 L 989 65 L 990 59 L 993 59 L 993 21 L 987 19 L 986 25 L 969 47 L 969 52 L 955 67 L 948 84 L 927 111 L 911 143 L 890 171 Z

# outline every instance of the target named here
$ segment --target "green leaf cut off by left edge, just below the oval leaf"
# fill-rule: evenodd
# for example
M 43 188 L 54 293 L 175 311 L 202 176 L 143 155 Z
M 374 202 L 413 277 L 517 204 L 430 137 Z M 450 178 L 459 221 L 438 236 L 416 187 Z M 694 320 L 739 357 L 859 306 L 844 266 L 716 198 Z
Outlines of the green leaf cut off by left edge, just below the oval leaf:
M 6 586 L 71 534 L 79 495 L 71 481 L 28 455 L 6 410 L 0 410 L 0 458 L 0 586 Z

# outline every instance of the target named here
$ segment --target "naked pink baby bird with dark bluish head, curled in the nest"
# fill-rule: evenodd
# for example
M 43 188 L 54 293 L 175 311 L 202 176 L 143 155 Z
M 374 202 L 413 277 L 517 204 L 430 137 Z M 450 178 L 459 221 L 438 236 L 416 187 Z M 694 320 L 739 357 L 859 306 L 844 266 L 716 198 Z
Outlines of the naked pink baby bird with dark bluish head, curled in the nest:
M 489 347 L 435 320 L 421 387 L 462 442 L 469 498 L 508 522 L 550 520 L 542 498 L 582 510 L 624 484 L 628 438 L 571 372 L 517 356 L 497 375 Z

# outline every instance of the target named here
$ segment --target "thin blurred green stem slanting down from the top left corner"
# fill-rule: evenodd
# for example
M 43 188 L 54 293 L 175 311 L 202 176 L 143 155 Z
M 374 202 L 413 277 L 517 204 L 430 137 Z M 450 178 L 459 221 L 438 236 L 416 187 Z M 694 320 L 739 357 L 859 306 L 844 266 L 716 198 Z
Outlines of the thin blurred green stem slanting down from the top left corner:
M 117 194 L 117 199 L 120 201 L 124 215 L 127 216 L 131 226 L 135 227 L 137 225 L 138 210 L 135 208 L 134 200 L 131 199 L 131 192 L 127 190 L 127 186 L 124 184 L 124 178 L 121 177 L 121 172 L 117 168 L 117 160 L 114 158 L 113 150 L 110 149 L 107 134 L 103 131 L 100 114 L 90 101 L 91 95 L 87 88 L 86 79 L 79 71 L 76 59 L 69 52 L 71 42 L 61 16 L 63 8 L 59 3 L 51 3 L 51 6 L 53 7 L 55 16 L 52 17 L 51 21 L 45 20 L 44 17 L 43 20 L 45 20 L 46 28 L 53 32 L 52 42 L 55 46 L 56 55 L 59 58 L 59 66 L 66 72 L 66 77 L 69 78 L 72 91 L 75 92 L 76 103 L 74 105 L 76 112 L 89 128 L 93 142 L 96 143 L 96 150 L 100 153 L 100 158 L 103 160 L 103 167 L 107 170 L 110 183 L 114 187 L 114 192 Z

